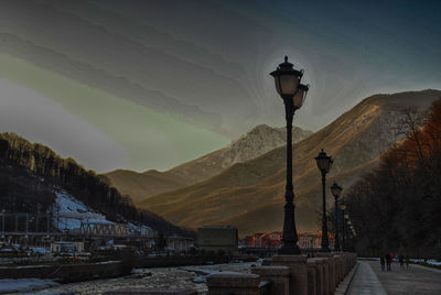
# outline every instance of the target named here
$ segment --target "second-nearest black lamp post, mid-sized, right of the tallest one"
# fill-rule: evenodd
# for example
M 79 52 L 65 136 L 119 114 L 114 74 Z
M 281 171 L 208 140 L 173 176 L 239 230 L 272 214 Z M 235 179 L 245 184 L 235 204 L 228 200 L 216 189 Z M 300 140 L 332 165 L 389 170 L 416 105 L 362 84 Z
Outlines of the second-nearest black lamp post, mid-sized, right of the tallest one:
M 327 221 L 326 221 L 326 173 L 330 172 L 332 166 L 331 156 L 326 155 L 326 153 L 322 151 L 315 157 L 318 167 L 322 173 L 322 188 L 323 188 L 323 217 L 322 217 L 322 252 L 331 252 L 330 250 L 330 240 L 327 237 Z

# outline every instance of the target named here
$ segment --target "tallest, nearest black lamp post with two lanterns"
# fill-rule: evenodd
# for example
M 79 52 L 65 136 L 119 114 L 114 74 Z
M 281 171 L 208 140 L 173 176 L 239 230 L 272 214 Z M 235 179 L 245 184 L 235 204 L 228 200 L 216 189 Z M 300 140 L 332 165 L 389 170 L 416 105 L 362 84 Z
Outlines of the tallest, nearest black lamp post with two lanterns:
M 295 110 L 300 109 L 309 90 L 308 85 L 300 84 L 303 70 L 293 68 L 293 64 L 284 62 L 278 68 L 270 73 L 275 78 L 276 89 L 284 103 L 284 117 L 287 120 L 287 189 L 284 194 L 284 221 L 282 245 L 279 254 L 300 254 L 300 248 L 297 244 L 298 236 L 295 230 L 294 217 L 294 192 L 292 185 L 292 120 Z

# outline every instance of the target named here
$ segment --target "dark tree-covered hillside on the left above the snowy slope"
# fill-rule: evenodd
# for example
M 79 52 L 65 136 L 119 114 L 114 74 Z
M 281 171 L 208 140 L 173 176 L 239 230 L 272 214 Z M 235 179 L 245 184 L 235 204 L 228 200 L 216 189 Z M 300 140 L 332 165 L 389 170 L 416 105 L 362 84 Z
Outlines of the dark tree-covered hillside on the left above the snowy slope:
M 163 233 L 192 234 L 159 216 L 137 209 L 104 176 L 50 148 L 30 143 L 14 133 L 0 134 L 0 210 L 37 212 L 54 204 L 53 186 L 61 186 L 87 206 L 116 221 L 143 222 Z

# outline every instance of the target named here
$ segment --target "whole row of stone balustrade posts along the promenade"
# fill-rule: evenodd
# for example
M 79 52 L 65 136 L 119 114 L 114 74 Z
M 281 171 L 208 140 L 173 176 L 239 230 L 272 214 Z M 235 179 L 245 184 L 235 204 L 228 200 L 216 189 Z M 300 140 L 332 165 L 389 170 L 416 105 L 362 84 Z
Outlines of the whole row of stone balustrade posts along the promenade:
M 312 255 L 275 255 L 270 265 L 252 267 L 252 274 L 225 272 L 209 275 L 208 294 L 331 295 L 356 263 L 355 253 L 319 252 Z

